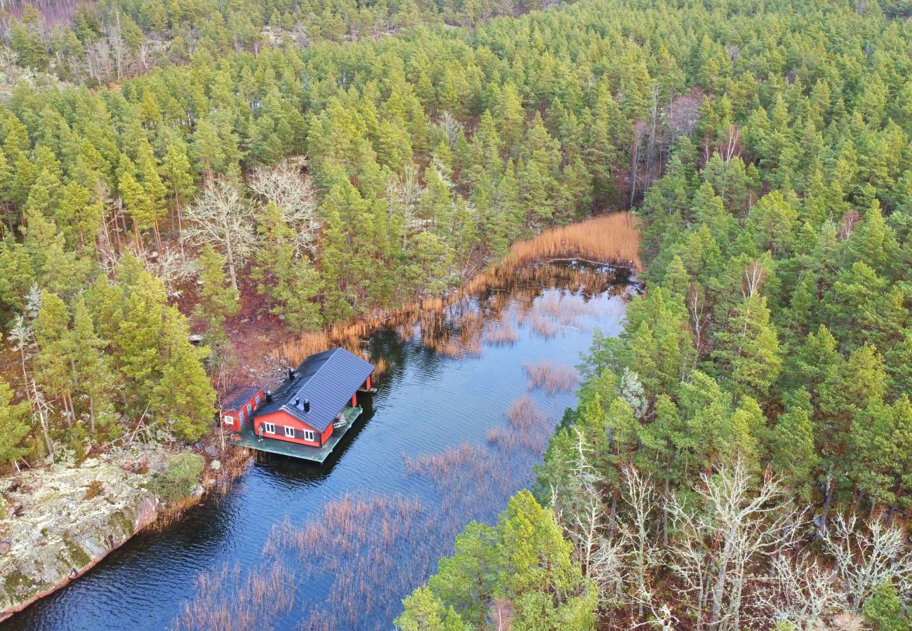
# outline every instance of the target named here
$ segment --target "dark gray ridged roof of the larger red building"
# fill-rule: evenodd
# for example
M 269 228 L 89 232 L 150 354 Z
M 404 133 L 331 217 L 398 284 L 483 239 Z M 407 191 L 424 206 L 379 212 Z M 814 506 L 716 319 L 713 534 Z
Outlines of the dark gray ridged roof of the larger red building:
M 281 409 L 322 433 L 373 371 L 371 364 L 345 348 L 317 353 L 307 357 L 291 378 L 275 388 L 271 400 L 257 408 L 254 417 Z M 304 411 L 305 400 L 310 401 L 309 412 Z

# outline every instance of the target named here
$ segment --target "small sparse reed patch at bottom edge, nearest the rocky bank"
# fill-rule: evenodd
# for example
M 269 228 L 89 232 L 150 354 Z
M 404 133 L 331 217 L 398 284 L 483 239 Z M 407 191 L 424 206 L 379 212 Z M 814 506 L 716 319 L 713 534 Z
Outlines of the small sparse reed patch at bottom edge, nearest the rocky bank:
M 244 576 L 240 567 L 225 564 L 197 577 L 192 601 L 184 604 L 174 631 L 213 629 L 246 631 L 269 628 L 270 622 L 295 604 L 295 574 L 273 559 Z

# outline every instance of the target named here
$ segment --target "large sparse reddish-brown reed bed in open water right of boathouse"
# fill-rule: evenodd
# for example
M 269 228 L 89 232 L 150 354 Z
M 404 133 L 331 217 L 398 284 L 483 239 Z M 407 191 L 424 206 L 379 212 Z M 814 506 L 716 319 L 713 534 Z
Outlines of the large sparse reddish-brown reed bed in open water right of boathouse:
M 297 569 L 299 580 L 331 577 L 325 597 L 301 605 L 300 628 L 363 628 L 369 620 L 398 615 L 402 595 L 426 581 L 440 556 L 452 552 L 467 522 L 493 522 L 513 493 L 532 483 L 551 423 L 528 396 L 513 402 L 505 415 L 503 427 L 488 432 L 488 445 L 466 442 L 405 458 L 409 474 L 433 482 L 439 503 L 398 494 L 343 495 L 303 524 L 285 520 L 275 526 L 256 575 L 267 576 L 265 566 L 282 559 Z M 202 586 L 217 592 L 213 584 Z M 253 596 L 244 595 L 236 604 L 218 594 L 198 594 L 196 600 L 182 616 L 181 629 L 196 623 L 197 628 L 223 628 L 219 625 L 229 615 L 226 624 L 259 613 Z M 261 626 L 268 627 L 269 619 Z

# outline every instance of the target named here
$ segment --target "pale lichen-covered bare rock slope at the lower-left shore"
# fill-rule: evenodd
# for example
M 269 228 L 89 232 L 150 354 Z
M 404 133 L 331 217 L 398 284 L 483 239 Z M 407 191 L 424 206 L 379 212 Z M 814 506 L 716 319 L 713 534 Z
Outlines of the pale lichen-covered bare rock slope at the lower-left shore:
M 97 564 L 158 517 L 166 453 L 106 454 L 0 480 L 0 620 Z

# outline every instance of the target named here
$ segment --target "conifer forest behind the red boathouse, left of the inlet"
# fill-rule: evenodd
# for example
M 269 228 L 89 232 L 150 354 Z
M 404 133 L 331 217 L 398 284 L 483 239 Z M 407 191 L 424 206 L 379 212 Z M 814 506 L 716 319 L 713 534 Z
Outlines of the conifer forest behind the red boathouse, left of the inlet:
M 240 302 L 316 330 L 440 294 L 622 197 L 614 171 L 647 107 L 612 95 L 627 68 L 590 69 L 592 85 L 556 54 L 525 68 L 495 52 L 511 24 L 490 44 L 429 25 L 200 46 L 98 89 L 17 82 L 0 110 L 0 460 L 197 440 L 236 363 L 224 323 Z

